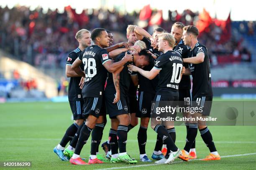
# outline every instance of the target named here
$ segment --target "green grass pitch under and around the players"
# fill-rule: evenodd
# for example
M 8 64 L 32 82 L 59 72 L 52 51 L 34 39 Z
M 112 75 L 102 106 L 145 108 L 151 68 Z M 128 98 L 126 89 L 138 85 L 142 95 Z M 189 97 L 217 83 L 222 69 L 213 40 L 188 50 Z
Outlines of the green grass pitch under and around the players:
M 200 160 L 182 162 L 175 160 L 171 165 L 154 165 L 142 163 L 136 165 L 124 163 L 76 166 L 63 162 L 53 153 L 53 148 L 60 142 L 65 130 L 73 122 L 71 120 L 69 103 L 33 102 L 33 103 L 5 103 L 0 104 L 0 162 L 31 161 L 31 167 L 26 169 L 214 169 L 214 170 L 249 170 L 256 167 L 256 126 L 212 126 L 216 148 L 223 156 L 219 161 Z M 137 143 L 138 125 L 128 133 L 127 151 L 139 160 Z M 110 121 L 104 129 L 102 142 L 108 140 Z M 184 126 L 176 127 L 177 146 L 183 149 L 186 137 Z M 146 153 L 151 158 L 156 140 L 156 133 L 148 128 Z M 90 138 L 84 146 L 81 156 L 90 155 Z M 196 138 L 197 157 L 204 158 L 209 154 L 208 148 L 198 132 Z M 104 151 L 100 148 L 100 153 Z M 248 155 L 252 153 L 251 155 Z M 245 155 L 243 155 L 245 154 Z M 247 154 L 247 155 L 246 155 Z M 236 156 L 232 156 L 236 155 Z M 0 167 L 3 169 L 4 167 Z M 17 168 L 5 168 L 8 170 Z M 22 168 L 23 169 L 23 168 Z

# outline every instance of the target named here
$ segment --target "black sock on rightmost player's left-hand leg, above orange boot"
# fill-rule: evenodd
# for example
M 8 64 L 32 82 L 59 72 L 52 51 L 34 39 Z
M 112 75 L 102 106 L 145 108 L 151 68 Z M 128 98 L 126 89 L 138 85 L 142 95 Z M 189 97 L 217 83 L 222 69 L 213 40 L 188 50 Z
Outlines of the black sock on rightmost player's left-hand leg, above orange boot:
M 187 130 L 187 138 L 186 138 L 186 145 L 184 150 L 189 153 L 193 143 L 195 142 L 195 138 L 197 137 L 197 123 L 189 123 L 189 128 Z

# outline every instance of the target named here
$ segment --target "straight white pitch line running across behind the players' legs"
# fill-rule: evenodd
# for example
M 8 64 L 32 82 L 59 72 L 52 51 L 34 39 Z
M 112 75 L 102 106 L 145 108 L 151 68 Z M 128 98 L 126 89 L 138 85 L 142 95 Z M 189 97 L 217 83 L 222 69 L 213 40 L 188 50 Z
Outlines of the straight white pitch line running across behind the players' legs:
M 1 140 L 61 140 L 60 138 L 0 138 Z M 128 140 L 129 142 L 138 142 L 138 140 Z M 147 140 L 147 143 L 155 143 L 156 140 Z M 196 141 L 197 143 L 204 143 L 203 141 Z M 185 143 L 184 140 L 176 140 L 175 143 Z M 256 144 L 254 141 L 214 141 L 214 143 L 251 143 Z

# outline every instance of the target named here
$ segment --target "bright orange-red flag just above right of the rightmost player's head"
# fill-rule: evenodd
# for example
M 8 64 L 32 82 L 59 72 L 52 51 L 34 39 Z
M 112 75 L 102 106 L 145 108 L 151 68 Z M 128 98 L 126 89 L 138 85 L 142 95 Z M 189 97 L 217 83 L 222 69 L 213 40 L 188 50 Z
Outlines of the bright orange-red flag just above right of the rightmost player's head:
M 207 29 L 212 24 L 212 18 L 210 14 L 204 9 L 202 13 L 199 14 L 199 20 L 197 21 L 196 27 L 199 32 L 210 31 Z

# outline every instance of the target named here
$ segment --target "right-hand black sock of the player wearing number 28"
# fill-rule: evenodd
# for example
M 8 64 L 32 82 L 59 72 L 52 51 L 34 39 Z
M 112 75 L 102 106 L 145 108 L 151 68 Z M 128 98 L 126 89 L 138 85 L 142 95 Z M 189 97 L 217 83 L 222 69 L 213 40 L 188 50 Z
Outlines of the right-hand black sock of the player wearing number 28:
M 92 130 L 92 143 L 91 143 L 91 155 L 96 155 L 99 152 L 99 145 L 104 130 L 104 123 L 98 123 Z

